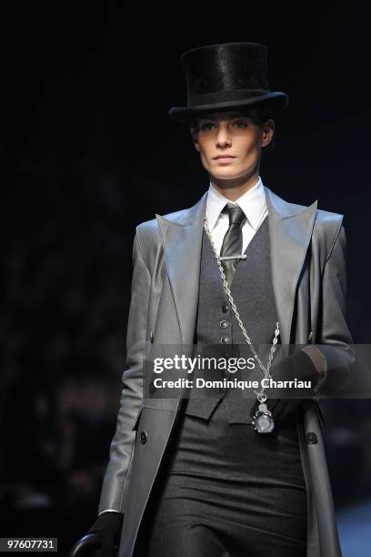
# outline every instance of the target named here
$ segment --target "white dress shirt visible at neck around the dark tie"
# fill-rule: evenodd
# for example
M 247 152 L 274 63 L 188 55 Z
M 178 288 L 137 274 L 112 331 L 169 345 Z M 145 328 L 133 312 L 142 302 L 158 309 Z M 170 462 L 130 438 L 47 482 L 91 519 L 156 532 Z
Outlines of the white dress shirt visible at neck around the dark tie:
M 227 199 L 210 183 L 206 199 L 206 217 L 218 255 L 220 254 L 226 231 L 229 228 L 228 215 L 221 212 L 225 208 L 226 203 L 238 205 L 246 215 L 246 220 L 242 225 L 242 253 L 244 253 L 256 230 L 268 214 L 266 192 L 261 177 L 259 176 L 255 186 L 248 189 L 234 202 Z

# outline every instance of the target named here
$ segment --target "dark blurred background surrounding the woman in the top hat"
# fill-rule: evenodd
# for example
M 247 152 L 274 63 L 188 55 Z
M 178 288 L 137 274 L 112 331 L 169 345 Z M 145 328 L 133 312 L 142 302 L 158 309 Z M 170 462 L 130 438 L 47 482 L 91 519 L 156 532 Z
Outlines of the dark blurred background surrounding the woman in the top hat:
M 125 369 L 135 226 L 208 187 L 189 134 L 168 117 L 186 104 L 188 48 L 268 46 L 270 86 L 290 102 L 260 175 L 288 201 L 345 214 L 349 326 L 355 342 L 371 337 L 369 7 L 127 10 L 15 6 L 5 45 L 15 111 L 0 156 L 14 151 L 15 181 L 3 181 L 0 204 L 0 536 L 58 536 L 60 554 L 95 520 Z M 339 521 L 359 505 L 369 520 L 370 403 L 324 410 Z M 344 557 L 362 557 L 366 542 L 344 523 Z

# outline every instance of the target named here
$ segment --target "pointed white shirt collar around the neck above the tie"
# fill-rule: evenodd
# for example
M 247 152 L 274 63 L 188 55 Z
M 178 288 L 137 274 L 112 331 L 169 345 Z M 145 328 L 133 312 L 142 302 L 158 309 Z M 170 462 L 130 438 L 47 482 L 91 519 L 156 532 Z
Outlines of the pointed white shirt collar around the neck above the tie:
M 206 217 L 210 230 L 216 226 L 216 221 L 226 203 L 235 203 L 242 208 L 250 225 L 256 230 L 266 211 L 266 192 L 261 177 L 259 176 L 255 186 L 248 189 L 234 202 L 227 199 L 210 183 L 206 200 Z

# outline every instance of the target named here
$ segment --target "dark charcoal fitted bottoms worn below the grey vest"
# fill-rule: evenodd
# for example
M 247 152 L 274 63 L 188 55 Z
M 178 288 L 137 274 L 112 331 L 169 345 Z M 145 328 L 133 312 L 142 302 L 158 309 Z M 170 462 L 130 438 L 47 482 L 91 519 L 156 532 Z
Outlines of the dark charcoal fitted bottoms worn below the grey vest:
M 274 436 L 183 415 L 135 557 L 305 557 L 306 484 L 295 420 Z

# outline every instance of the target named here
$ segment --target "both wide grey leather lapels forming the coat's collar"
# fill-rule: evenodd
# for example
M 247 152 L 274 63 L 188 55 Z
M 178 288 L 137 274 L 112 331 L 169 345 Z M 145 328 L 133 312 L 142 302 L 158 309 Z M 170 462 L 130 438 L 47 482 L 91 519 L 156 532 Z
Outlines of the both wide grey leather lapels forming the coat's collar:
M 296 286 L 316 218 L 315 201 L 309 207 L 287 203 L 268 187 L 271 272 L 281 342 L 288 344 L 296 298 Z M 202 233 L 207 192 L 196 205 L 166 217 L 155 215 L 165 253 L 175 308 L 184 344 L 193 344 L 201 265 Z

